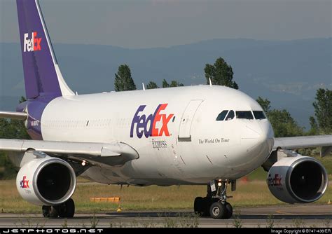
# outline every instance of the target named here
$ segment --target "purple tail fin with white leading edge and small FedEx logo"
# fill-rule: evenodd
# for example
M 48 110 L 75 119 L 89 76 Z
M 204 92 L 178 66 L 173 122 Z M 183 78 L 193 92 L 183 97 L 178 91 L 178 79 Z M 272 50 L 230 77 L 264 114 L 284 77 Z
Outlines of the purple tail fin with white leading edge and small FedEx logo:
M 16 0 L 27 99 L 74 95 L 57 65 L 38 0 Z

